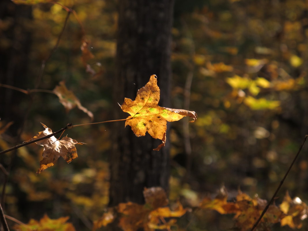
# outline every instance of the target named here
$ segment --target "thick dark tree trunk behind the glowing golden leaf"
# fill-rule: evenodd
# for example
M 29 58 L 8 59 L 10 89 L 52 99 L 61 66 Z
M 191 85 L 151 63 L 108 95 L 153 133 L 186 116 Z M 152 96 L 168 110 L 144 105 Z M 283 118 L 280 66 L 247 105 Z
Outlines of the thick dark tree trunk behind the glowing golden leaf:
M 138 89 L 155 74 L 161 93 L 159 105 L 169 106 L 173 3 L 173 0 L 119 1 L 114 105 L 122 104 L 124 97 L 134 100 Z M 114 119 L 127 116 L 120 107 L 115 108 Z M 160 140 L 148 133 L 136 137 L 130 127 L 124 129 L 124 122 L 115 123 L 113 129 L 109 205 L 126 201 L 143 203 L 144 187 L 161 186 L 168 190 L 168 145 L 153 151 Z

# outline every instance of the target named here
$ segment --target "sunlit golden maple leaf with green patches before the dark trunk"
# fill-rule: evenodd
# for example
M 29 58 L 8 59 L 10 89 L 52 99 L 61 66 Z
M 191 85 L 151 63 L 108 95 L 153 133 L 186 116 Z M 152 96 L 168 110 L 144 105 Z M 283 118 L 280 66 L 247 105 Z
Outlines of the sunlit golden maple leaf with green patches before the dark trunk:
M 197 113 L 183 109 L 172 109 L 158 106 L 160 99 L 160 89 L 157 86 L 156 75 L 151 75 L 149 82 L 137 92 L 136 99 L 125 98 L 121 109 L 130 114 L 125 122 L 132 127 L 136 136 L 145 136 L 148 132 L 153 138 L 162 140 L 157 148 L 160 150 L 166 143 L 167 121 L 177 121 L 184 116 L 189 116 L 194 122 L 197 119 Z

